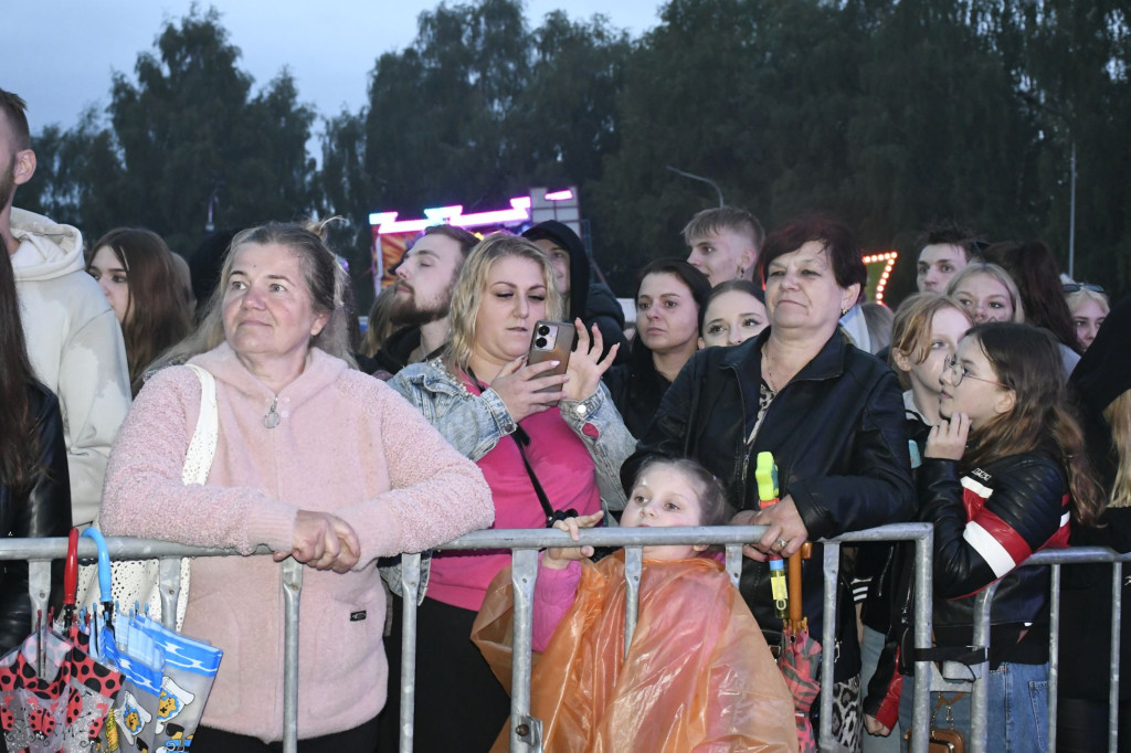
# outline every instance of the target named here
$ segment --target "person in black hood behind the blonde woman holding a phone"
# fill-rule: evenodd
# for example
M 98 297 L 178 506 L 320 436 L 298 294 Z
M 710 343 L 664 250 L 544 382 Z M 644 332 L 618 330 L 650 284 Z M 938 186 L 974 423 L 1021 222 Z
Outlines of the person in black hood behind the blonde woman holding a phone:
M 569 225 L 547 219 L 523 233 L 523 237 L 533 241 L 550 257 L 554 287 L 568 303 L 566 319 L 580 318 L 586 329 L 596 324 L 605 343 L 605 353 L 620 343 L 615 363 L 624 363 L 629 356 L 624 312 L 607 285 L 589 282 L 589 256 L 578 234 Z

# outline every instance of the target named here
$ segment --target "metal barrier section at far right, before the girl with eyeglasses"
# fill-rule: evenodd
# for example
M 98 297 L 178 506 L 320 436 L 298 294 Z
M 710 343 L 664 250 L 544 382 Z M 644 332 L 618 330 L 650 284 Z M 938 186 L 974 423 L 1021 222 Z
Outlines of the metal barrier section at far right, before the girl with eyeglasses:
M 1067 549 L 1044 549 L 1022 562 L 1021 568 L 1038 568 L 1051 565 L 1048 599 L 1048 750 L 1056 750 L 1056 685 L 1060 678 L 1060 590 L 1061 565 L 1063 564 L 1112 564 L 1112 642 L 1111 642 L 1111 684 L 1107 691 L 1107 750 L 1115 753 L 1119 741 L 1119 700 L 1120 700 L 1120 622 L 1123 604 L 1123 563 L 1131 562 L 1131 553 L 1119 554 L 1099 546 L 1080 546 Z M 975 674 L 974 689 L 970 692 L 970 751 L 982 753 L 986 750 L 988 729 L 986 717 L 988 710 L 988 670 L 990 670 L 990 607 L 998 592 L 1000 580 L 990 583 L 978 594 L 974 605 L 974 643 L 986 647 L 986 660 L 972 667 Z

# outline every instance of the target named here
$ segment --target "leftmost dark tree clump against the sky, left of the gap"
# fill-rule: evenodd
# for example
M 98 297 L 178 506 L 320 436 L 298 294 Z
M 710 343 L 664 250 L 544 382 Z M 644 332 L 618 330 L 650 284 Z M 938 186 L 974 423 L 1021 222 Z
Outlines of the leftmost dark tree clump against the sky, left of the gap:
M 216 226 L 310 215 L 314 112 L 286 70 L 252 95 L 239 57 L 215 9 L 167 23 L 135 76 L 114 75 L 109 128 L 92 112 L 72 130 L 37 138 L 42 173 L 29 193 L 90 240 L 140 225 L 182 253 L 204 236 L 214 191 Z

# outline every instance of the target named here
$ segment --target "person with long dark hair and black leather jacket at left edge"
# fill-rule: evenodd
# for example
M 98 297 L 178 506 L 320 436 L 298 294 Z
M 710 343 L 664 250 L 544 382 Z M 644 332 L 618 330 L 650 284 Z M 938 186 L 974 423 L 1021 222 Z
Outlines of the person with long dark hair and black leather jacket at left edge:
M 35 381 L 27 360 L 2 241 L 0 257 L 0 535 L 67 536 L 70 476 L 59 401 Z M 0 654 L 27 638 L 33 622 L 27 562 L 0 560 Z

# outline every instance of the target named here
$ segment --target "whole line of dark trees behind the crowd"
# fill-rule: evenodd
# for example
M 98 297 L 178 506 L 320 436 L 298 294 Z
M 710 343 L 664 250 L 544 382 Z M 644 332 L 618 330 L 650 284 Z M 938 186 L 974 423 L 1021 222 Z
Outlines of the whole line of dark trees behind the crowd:
M 340 215 L 334 239 L 368 303 L 368 217 L 495 208 L 581 187 L 616 292 L 717 204 L 768 228 L 836 216 L 904 252 L 956 219 L 987 241 L 1043 237 L 1067 269 L 1131 283 L 1131 1 L 671 0 L 633 38 L 520 0 L 440 5 L 381 54 L 368 104 L 320 114 L 284 69 L 260 87 L 218 11 L 167 21 L 104 112 L 36 135 L 19 204 L 88 236 L 144 225 L 182 253 L 217 227 Z M 320 164 L 307 150 L 321 119 Z

